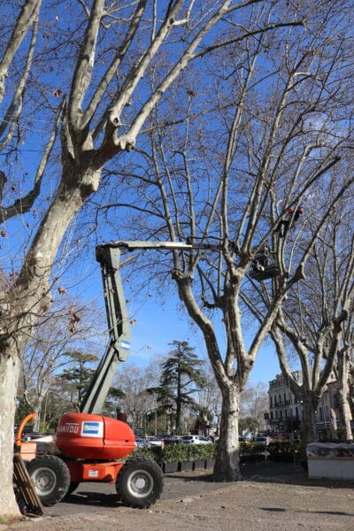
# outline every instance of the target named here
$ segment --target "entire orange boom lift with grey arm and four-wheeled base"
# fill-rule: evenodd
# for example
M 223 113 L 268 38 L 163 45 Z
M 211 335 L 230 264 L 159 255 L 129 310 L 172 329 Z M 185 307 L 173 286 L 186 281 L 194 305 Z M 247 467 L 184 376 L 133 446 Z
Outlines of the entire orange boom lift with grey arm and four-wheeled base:
M 232 249 L 233 243 L 229 242 L 229 246 Z M 58 503 L 83 481 L 115 482 L 119 498 L 131 507 L 149 507 L 161 495 L 163 474 L 155 461 L 142 457 L 119 460 L 135 450 L 132 429 L 125 422 L 101 415 L 114 374 L 119 363 L 127 360 L 130 348 L 130 327 L 119 273 L 120 250 L 148 249 L 219 251 L 222 246 L 220 242 L 122 241 L 96 247 L 110 339 L 80 412 L 67 413 L 58 422 L 56 445 L 60 454 L 44 454 L 27 462 L 43 505 Z

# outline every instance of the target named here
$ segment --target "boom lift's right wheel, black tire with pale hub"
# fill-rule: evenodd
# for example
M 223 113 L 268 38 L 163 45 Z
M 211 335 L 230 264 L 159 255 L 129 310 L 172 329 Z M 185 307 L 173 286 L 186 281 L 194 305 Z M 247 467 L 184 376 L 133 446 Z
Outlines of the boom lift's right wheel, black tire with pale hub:
M 119 499 L 128 507 L 146 509 L 161 496 L 164 474 L 150 458 L 135 456 L 121 467 L 116 489 Z

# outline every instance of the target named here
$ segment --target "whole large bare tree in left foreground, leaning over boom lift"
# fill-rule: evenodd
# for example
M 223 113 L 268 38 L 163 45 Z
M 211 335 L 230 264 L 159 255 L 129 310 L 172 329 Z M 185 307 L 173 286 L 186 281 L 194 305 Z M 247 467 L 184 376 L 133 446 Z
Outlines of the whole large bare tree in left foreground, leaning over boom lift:
M 266 4 L 66 0 L 55 5 L 53 17 L 50 2 L 27 0 L 23 8 L 2 3 L 1 24 L 14 23 L 0 59 L 7 265 L 0 334 L 1 515 L 18 513 L 12 439 L 4 434 L 12 433 L 19 357 L 58 287 L 54 270 L 68 258 L 68 227 L 112 158 L 124 168 L 150 113 L 189 64 L 197 66 L 213 49 L 251 33 L 283 26 L 275 8 L 261 26 L 259 17 L 252 22 L 252 9 L 261 12 Z M 242 12 L 250 27 L 238 23 Z M 299 24 L 297 15 L 293 21 Z M 150 73 L 153 85 L 146 82 Z

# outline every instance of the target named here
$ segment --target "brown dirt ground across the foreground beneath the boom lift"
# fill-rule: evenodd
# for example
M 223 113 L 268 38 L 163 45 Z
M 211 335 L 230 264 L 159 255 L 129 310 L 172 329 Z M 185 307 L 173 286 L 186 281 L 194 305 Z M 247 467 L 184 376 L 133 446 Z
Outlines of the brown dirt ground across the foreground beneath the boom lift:
M 0 524 L 0 531 L 354 529 L 354 482 L 309 480 L 297 464 L 268 461 L 245 464 L 242 474 L 237 483 L 213 483 L 211 471 L 168 474 L 148 510 L 117 503 L 112 485 L 88 483 L 43 517 Z

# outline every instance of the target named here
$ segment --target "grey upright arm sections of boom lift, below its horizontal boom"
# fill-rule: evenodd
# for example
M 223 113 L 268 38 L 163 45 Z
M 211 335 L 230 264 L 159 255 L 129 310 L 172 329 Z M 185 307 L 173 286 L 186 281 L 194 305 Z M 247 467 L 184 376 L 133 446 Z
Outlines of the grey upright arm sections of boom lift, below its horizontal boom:
M 119 361 L 125 361 L 130 348 L 130 326 L 126 299 L 119 273 L 120 250 L 118 246 L 102 245 L 96 248 L 96 259 L 101 264 L 104 283 L 104 302 L 110 333 L 110 342 L 101 359 L 80 411 L 98 414 L 112 386 Z

